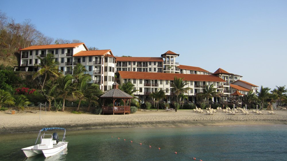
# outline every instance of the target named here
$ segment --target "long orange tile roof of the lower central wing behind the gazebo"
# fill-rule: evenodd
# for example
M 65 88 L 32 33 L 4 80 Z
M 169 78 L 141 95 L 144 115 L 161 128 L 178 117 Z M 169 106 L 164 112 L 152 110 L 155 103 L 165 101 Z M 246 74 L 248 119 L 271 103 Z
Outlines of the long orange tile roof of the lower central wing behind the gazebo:
M 183 80 L 193 81 L 211 81 L 211 82 L 225 82 L 215 75 L 203 75 L 203 74 L 178 74 L 178 73 L 156 73 L 156 72 L 129 72 L 119 71 L 122 78 L 128 79 L 156 79 L 156 80 L 173 80 L 174 76 L 178 78 L 184 78 Z

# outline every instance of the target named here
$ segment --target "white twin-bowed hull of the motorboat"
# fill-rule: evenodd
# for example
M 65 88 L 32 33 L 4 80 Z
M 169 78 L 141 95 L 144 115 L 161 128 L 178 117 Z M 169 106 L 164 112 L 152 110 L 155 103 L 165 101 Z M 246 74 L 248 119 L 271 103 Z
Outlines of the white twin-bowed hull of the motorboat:
M 45 157 L 53 156 L 65 148 L 67 148 L 68 142 L 59 142 L 57 145 L 53 145 L 53 148 L 39 148 L 40 144 L 29 146 L 27 148 L 23 148 L 24 154 L 29 158 L 32 156 L 36 156 L 38 154 L 44 154 Z

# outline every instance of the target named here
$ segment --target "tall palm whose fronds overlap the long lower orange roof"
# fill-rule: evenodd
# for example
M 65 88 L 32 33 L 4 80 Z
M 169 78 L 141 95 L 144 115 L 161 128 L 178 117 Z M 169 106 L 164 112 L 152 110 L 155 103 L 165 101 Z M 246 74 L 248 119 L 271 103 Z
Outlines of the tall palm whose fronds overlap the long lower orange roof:
M 189 87 L 185 87 L 189 83 L 186 83 L 183 81 L 183 78 L 177 78 L 177 76 L 174 76 L 173 82 L 170 82 L 170 87 L 172 87 L 175 95 L 177 96 L 177 105 L 175 108 L 175 112 L 177 112 L 177 106 L 179 104 L 179 95 L 181 93 L 188 93 L 188 91 L 191 89 Z

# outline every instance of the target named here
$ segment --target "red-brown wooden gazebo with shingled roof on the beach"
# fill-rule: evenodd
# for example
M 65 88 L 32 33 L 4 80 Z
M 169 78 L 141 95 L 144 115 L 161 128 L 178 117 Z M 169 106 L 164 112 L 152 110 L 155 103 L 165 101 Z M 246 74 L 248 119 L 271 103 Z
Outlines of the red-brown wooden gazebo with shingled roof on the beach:
M 133 96 L 120 90 L 119 84 L 117 82 L 113 84 L 113 87 L 113 89 L 100 96 L 100 98 L 103 99 L 103 114 L 113 113 L 114 115 L 115 113 L 131 113 L 131 99 L 133 98 Z M 107 99 L 112 100 L 113 105 L 105 105 L 105 101 Z M 123 101 L 123 105 L 119 105 L 121 100 Z M 127 102 L 129 102 L 128 105 Z

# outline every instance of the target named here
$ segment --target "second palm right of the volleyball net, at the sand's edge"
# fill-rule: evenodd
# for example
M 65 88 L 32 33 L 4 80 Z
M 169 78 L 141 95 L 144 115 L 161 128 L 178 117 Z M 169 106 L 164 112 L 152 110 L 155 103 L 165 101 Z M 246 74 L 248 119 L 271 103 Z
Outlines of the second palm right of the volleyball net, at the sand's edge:
M 65 99 L 67 98 L 68 95 L 71 94 L 73 87 L 72 85 L 72 75 L 71 74 L 67 74 L 65 76 L 60 76 L 57 79 L 58 82 L 58 86 L 57 89 L 59 91 L 59 96 L 63 97 L 63 107 L 61 109 L 61 111 L 65 110 Z

